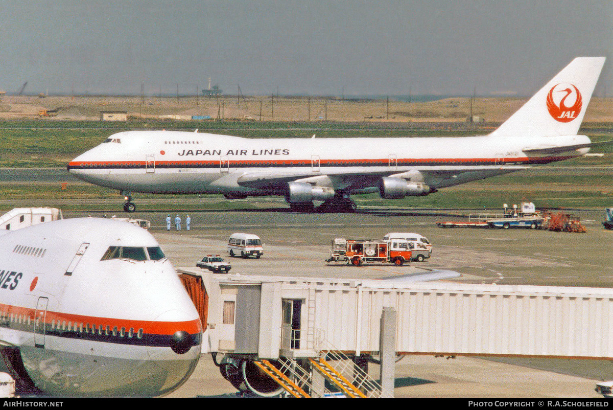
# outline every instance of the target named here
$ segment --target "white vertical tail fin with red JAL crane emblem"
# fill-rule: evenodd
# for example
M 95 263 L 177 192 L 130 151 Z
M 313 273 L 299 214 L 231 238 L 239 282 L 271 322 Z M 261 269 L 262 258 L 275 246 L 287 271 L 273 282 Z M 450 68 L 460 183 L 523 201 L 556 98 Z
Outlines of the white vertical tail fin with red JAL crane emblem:
M 604 60 L 604 57 L 575 58 L 490 135 L 576 135 Z

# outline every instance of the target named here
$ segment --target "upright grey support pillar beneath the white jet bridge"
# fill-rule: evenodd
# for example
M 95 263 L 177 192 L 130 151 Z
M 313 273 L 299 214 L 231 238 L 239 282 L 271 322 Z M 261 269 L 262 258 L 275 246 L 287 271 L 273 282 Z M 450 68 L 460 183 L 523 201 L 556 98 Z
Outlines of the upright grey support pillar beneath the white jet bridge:
M 394 308 L 384 307 L 381 312 L 379 354 L 381 355 L 381 397 L 393 398 L 396 357 L 396 311 Z

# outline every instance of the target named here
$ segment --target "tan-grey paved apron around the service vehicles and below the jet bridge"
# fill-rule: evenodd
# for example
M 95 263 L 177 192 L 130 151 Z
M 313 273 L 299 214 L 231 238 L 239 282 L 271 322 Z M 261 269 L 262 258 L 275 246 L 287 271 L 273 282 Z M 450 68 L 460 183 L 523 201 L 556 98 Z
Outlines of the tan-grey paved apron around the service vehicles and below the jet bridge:
M 456 280 L 469 283 L 611 286 L 613 231 L 601 225 L 604 210 L 573 210 L 587 233 L 436 226 L 437 221 L 462 219 L 469 212 L 384 208 L 356 214 L 300 214 L 285 209 L 189 212 L 190 231 L 185 229 L 186 212 L 171 214 L 183 220 L 181 231 L 174 225 L 166 230 L 167 212 L 135 212 L 129 216 L 151 221 L 151 233 L 175 267 L 194 266 L 204 255 L 219 254 L 232 264 L 232 274 L 376 279 L 425 269 L 452 269 L 462 274 Z M 80 215 L 88 214 L 68 212 L 65 217 Z M 261 259 L 227 257 L 227 238 L 238 231 L 262 238 L 265 253 Z M 433 243 L 432 257 L 401 267 L 379 264 L 356 268 L 325 262 L 333 238 L 380 239 L 391 231 L 423 234 Z M 371 366 L 371 371 L 376 373 L 376 366 Z M 398 397 L 596 397 L 595 383 L 611 379 L 611 363 L 411 356 L 398 362 L 396 372 Z M 511 380 L 521 382 L 509 383 Z M 170 397 L 234 392 L 205 355 L 188 383 Z

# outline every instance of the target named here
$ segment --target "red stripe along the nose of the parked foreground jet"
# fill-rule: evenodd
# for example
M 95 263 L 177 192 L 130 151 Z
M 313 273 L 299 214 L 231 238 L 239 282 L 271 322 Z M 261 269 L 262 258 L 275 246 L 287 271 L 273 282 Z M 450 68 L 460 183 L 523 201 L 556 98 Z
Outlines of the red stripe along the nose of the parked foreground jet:
M 8 304 L 0 304 L 0 312 L 4 315 L 23 315 L 27 320 L 28 317 L 30 320 L 34 320 L 34 315 L 36 313 L 36 309 L 31 308 L 21 308 L 20 306 L 10 306 Z M 85 316 L 85 315 L 77 315 L 70 313 L 62 313 L 62 312 L 52 312 L 47 311 L 45 315 L 45 322 L 51 323 L 51 320 L 66 321 L 72 323 L 89 323 L 89 325 L 96 325 L 103 327 L 125 327 L 125 328 L 142 328 L 144 333 L 152 334 L 152 335 L 173 335 L 177 330 L 185 330 L 191 335 L 195 333 L 199 333 L 202 331 L 202 324 L 200 323 L 200 319 L 194 320 L 185 320 L 181 322 L 161 322 L 161 321 L 150 321 L 150 320 L 130 320 L 130 319 L 113 319 L 110 317 L 96 317 L 96 316 Z

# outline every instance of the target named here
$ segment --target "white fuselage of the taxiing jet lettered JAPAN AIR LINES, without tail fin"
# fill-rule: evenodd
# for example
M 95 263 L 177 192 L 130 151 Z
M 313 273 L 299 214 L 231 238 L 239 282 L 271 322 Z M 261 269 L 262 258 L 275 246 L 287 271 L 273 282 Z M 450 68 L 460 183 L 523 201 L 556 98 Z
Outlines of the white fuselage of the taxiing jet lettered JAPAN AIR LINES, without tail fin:
M 288 180 L 329 176 L 343 193 L 376 191 L 376 180 L 414 171 L 431 188 L 462 184 L 582 155 L 528 156 L 524 149 L 586 144 L 585 136 L 243 138 L 180 131 L 128 131 L 70 161 L 69 171 L 92 184 L 124 191 L 283 195 L 280 185 L 254 187 L 241 178 Z M 459 169 L 460 178 L 440 172 Z

